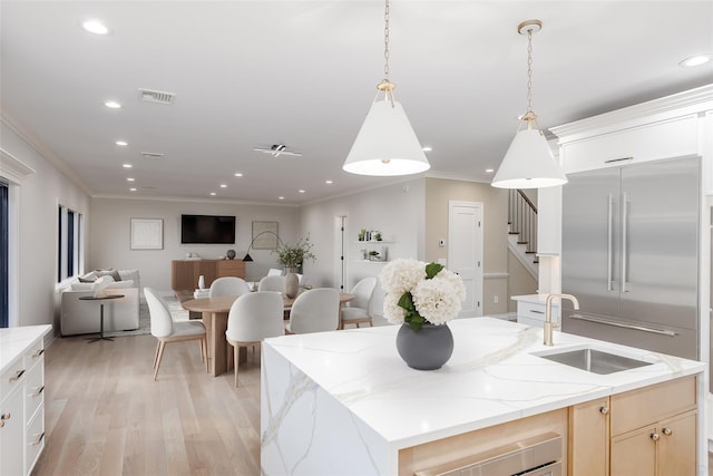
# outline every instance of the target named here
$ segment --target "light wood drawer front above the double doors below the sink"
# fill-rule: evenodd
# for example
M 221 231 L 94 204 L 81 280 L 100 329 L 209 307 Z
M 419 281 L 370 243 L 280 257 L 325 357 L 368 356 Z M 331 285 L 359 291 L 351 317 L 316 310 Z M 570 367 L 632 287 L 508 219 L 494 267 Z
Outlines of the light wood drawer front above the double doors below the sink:
M 612 396 L 612 436 L 694 409 L 696 378 L 658 383 Z

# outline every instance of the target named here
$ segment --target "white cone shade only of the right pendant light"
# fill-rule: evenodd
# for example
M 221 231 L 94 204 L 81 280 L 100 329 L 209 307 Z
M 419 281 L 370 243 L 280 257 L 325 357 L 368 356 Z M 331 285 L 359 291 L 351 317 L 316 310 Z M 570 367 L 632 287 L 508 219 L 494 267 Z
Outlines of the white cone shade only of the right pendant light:
M 545 136 L 537 128 L 521 129 L 510 143 L 491 185 L 498 188 L 543 188 L 567 183 Z

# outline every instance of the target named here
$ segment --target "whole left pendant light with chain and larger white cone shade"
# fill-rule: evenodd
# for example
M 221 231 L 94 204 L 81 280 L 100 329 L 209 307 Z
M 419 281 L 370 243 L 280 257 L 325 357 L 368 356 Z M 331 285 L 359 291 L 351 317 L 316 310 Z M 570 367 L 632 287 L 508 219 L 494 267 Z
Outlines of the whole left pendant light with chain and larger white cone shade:
M 431 165 L 389 80 L 389 0 L 384 10 L 384 79 L 377 85 L 369 114 L 342 168 L 352 174 L 394 176 L 428 171 Z M 379 100 L 383 94 L 383 100 Z

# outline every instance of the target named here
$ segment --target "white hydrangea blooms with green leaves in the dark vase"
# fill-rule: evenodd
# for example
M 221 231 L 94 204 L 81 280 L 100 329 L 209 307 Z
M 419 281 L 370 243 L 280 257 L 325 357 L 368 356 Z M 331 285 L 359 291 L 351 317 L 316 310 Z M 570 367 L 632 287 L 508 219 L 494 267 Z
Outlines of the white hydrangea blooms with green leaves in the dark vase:
M 438 263 L 393 260 L 379 280 L 387 292 L 383 317 L 394 324 L 408 322 L 414 331 L 455 319 L 466 300 L 462 279 Z

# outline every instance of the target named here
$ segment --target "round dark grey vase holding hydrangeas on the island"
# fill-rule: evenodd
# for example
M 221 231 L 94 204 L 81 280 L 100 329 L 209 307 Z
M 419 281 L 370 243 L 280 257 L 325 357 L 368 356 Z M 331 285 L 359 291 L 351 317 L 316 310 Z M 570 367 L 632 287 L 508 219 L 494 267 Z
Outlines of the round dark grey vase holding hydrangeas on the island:
M 440 369 L 453 353 L 453 334 L 448 324 L 423 324 L 414 331 L 403 323 L 397 333 L 397 350 L 412 369 Z

